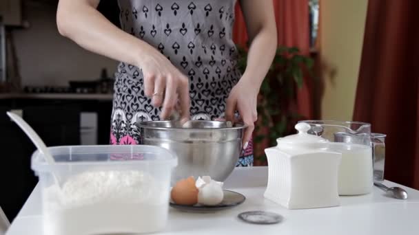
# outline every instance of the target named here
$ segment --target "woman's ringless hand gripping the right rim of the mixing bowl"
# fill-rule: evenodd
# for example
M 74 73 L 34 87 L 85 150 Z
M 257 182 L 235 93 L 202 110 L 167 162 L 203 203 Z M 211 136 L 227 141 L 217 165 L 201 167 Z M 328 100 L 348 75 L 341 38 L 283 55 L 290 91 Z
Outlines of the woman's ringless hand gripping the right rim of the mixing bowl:
M 234 122 L 234 112 L 238 111 L 241 120 L 247 125 L 243 137 L 243 148 L 247 148 L 252 138 L 254 122 L 258 119 L 256 111 L 259 87 L 249 82 L 248 79 L 241 79 L 233 88 L 227 99 L 225 109 L 225 120 Z

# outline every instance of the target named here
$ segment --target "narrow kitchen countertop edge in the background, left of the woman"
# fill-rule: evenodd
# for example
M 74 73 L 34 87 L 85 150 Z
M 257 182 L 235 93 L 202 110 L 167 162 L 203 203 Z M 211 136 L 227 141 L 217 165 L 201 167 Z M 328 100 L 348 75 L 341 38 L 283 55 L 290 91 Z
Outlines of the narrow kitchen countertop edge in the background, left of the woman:
M 0 93 L 0 99 L 112 100 L 112 93 Z

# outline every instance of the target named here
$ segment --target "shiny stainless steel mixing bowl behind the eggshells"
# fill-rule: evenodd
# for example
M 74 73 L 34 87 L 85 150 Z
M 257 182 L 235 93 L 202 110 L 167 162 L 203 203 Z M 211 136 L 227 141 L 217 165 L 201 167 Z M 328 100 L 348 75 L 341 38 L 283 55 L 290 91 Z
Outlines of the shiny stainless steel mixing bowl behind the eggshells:
M 174 151 L 178 166 L 172 181 L 186 177 L 210 175 L 225 181 L 241 155 L 243 124 L 227 127 L 227 122 L 190 121 L 187 128 L 178 122 L 152 121 L 136 124 L 143 144 Z

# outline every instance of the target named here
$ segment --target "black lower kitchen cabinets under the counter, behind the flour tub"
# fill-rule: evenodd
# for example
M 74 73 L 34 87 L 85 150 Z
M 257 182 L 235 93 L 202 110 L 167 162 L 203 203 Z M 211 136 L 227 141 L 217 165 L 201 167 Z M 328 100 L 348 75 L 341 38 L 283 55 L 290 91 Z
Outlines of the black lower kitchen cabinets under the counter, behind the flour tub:
M 7 193 L 0 193 L 0 206 L 12 221 L 38 180 L 30 168 L 30 157 L 35 147 L 23 131 L 10 121 L 6 111 L 21 109 L 23 119 L 34 128 L 47 146 L 81 144 L 81 113 L 95 113 L 96 133 L 93 133 L 93 138 L 97 144 L 109 144 L 112 99 L 85 99 L 88 96 L 83 96 L 83 99 L 59 99 L 59 94 L 51 99 L 48 96 L 36 98 L 37 96 L 19 94 L 9 98 L 6 94 L 1 96 L 0 185 L 2 192 L 7 190 Z M 72 98 L 77 97 L 74 95 Z

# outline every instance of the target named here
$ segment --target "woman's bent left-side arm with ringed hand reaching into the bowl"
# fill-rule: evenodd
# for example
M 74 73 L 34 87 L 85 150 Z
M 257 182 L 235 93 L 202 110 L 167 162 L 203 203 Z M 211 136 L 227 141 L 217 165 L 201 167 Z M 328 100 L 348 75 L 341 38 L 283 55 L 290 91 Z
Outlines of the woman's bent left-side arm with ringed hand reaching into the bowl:
M 182 119 L 189 118 L 190 96 L 187 78 L 154 47 L 115 27 L 98 10 L 100 0 L 60 0 L 57 26 L 60 34 L 81 47 L 136 65 L 143 70 L 145 95 L 167 118 L 176 105 L 178 94 Z M 158 93 L 153 96 L 153 93 Z M 164 100 L 163 100 L 164 94 Z

